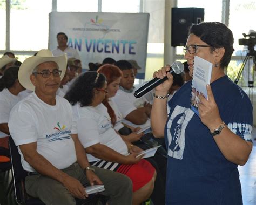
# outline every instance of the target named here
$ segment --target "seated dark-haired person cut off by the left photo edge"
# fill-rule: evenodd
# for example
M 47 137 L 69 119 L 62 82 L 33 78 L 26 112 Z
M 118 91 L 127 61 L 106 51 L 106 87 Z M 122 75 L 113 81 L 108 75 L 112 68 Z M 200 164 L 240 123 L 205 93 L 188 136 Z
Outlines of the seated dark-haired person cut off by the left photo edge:
M 4 71 L 0 79 L 0 146 L 8 148 L 8 121 L 11 108 L 18 103 L 21 98 L 19 92 L 25 88 L 18 81 L 18 66 L 11 66 Z

